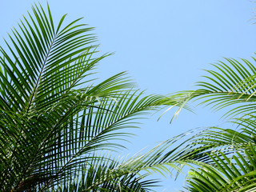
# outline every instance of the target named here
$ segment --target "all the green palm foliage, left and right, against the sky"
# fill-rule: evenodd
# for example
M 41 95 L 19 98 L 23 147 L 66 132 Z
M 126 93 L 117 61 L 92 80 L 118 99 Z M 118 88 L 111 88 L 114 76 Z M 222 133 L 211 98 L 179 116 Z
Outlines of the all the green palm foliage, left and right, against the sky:
M 32 10 L 0 47 L 1 191 L 152 191 L 158 180 L 148 175 L 183 166 L 192 167 L 187 191 L 256 190 L 252 62 L 225 58 L 197 90 L 145 96 L 124 72 L 94 81 L 110 54 L 98 56 L 93 28 L 81 18 L 65 25 L 64 15 L 55 25 L 49 6 Z M 190 130 L 145 154 L 112 154 L 125 147 L 118 140 L 130 136 L 126 128 L 163 108 L 178 106 L 176 116 L 191 101 L 227 110 L 238 129 Z

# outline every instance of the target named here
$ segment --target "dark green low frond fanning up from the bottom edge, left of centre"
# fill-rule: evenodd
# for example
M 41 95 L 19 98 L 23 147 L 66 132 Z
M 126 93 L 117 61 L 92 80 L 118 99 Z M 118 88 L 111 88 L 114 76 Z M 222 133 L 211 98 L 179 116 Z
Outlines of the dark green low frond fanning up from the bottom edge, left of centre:
M 157 181 L 143 181 L 146 174 L 138 175 L 118 167 L 111 156 L 97 159 L 82 166 L 82 174 L 63 182 L 56 191 L 151 191 Z

